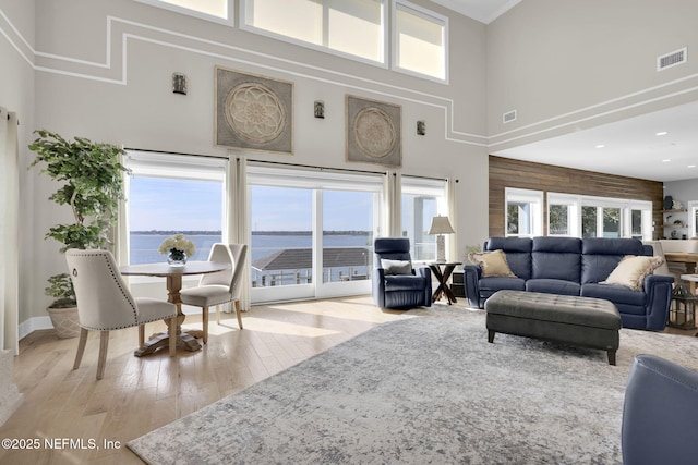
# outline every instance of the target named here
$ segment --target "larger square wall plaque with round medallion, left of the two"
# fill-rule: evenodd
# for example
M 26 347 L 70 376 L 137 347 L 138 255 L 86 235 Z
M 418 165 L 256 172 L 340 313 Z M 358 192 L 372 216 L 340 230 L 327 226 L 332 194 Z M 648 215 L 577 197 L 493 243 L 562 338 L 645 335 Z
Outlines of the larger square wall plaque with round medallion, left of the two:
M 293 84 L 216 66 L 216 145 L 293 152 Z

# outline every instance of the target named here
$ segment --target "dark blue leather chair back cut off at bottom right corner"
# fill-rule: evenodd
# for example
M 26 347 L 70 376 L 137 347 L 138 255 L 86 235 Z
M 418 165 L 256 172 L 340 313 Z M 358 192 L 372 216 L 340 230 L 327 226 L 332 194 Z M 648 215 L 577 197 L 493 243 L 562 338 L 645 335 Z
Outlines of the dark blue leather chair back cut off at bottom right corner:
M 698 463 L 698 372 L 635 357 L 623 406 L 624 465 Z

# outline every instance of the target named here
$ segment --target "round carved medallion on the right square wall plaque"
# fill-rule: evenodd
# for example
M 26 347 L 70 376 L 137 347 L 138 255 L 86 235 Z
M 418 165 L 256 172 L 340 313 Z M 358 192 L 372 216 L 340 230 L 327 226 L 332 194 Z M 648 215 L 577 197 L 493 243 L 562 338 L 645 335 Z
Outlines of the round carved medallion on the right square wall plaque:
M 353 136 L 361 151 L 371 158 L 389 155 L 397 143 L 397 131 L 385 111 L 368 107 L 357 113 Z

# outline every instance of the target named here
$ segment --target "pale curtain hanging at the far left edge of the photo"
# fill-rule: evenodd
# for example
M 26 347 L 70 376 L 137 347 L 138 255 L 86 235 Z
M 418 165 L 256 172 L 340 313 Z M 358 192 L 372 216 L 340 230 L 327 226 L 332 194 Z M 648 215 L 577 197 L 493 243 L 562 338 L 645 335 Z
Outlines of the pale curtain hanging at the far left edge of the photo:
M 19 273 L 20 273 L 20 163 L 17 115 L 0 107 L 0 339 L 1 348 L 20 353 Z

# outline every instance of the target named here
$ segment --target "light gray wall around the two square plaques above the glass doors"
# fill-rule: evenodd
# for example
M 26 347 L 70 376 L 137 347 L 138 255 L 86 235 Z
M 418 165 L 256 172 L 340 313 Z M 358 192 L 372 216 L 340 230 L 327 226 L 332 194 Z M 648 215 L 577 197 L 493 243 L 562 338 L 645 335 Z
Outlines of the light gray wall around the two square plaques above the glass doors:
M 133 148 L 225 155 L 214 146 L 213 130 L 214 66 L 221 65 L 294 84 L 293 156 L 251 158 L 375 170 L 380 167 L 345 161 L 345 95 L 397 103 L 402 108 L 401 172 L 459 180 L 455 228 L 459 254 L 465 254 L 465 244 L 481 242 L 488 228 L 485 28 L 430 2 L 414 2 L 450 15 L 448 85 L 132 0 L 36 0 L 36 11 L 34 1 L 0 0 L 0 10 L 22 36 L 0 36 L 0 59 L 3 69 L 10 63 L 12 79 L 8 86 L 0 81 L 0 105 L 14 103 L 26 113 L 21 120 L 27 163 L 33 158 L 25 148 L 27 134 L 34 129 Z M 12 29 L 7 22 L 0 27 Z M 33 47 L 23 50 L 31 64 L 14 48 L 23 40 Z M 186 96 L 171 93 L 172 72 L 186 74 Z M 12 101 L 9 96 L 17 93 L 25 97 Z M 324 120 L 313 118 L 318 99 L 326 105 Z M 417 120 L 426 120 L 426 136 L 416 135 Z M 59 245 L 43 237 L 70 213 L 46 200 L 55 186 L 37 172 L 22 179 L 27 229 L 21 321 L 46 315 L 46 278 L 65 266 Z

